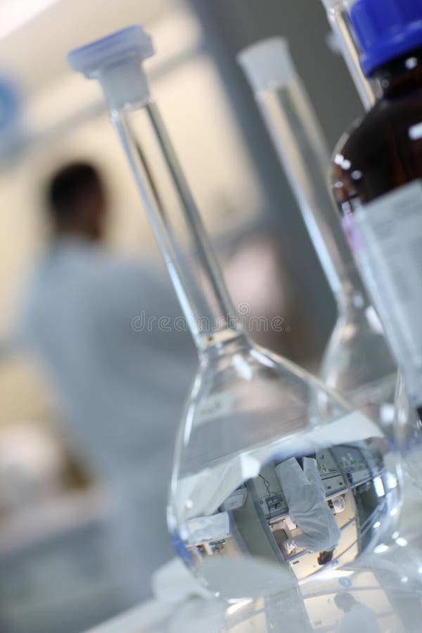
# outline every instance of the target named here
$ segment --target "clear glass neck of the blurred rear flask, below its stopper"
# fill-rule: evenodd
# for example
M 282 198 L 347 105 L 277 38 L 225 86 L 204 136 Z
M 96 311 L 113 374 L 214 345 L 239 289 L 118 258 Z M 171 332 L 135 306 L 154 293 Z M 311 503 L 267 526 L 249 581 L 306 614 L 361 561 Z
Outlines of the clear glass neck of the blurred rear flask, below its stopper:
M 329 153 L 298 75 L 257 96 L 262 117 L 288 176 L 326 280 L 341 312 L 366 297 L 328 191 Z

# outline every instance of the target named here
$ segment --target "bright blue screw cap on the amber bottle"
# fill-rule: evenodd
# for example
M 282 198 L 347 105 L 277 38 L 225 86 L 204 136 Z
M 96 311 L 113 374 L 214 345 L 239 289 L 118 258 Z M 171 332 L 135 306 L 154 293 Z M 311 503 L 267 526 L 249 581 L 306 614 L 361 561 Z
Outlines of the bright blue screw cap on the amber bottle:
M 422 47 L 422 0 L 357 0 L 350 17 L 362 48 L 366 77 L 397 57 Z

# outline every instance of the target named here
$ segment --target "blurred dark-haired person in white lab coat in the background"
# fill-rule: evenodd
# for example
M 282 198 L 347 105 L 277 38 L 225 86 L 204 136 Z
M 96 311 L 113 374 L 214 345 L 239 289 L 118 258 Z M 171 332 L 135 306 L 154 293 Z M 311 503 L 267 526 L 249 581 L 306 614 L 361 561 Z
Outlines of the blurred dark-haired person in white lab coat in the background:
M 173 554 L 170 454 L 196 353 L 187 328 L 166 325 L 181 309 L 165 271 L 101 243 L 107 200 L 94 167 L 63 167 L 48 206 L 51 243 L 25 286 L 15 339 L 43 364 L 79 454 L 106 482 L 130 604 L 149 595 L 151 573 Z

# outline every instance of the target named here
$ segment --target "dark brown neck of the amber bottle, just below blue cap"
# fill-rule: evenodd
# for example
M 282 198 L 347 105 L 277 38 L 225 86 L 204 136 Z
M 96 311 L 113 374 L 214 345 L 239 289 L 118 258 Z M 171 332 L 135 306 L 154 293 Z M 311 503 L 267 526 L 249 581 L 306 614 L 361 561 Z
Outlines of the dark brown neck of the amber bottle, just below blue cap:
M 422 47 L 391 60 L 374 72 L 383 97 L 405 96 L 422 89 Z

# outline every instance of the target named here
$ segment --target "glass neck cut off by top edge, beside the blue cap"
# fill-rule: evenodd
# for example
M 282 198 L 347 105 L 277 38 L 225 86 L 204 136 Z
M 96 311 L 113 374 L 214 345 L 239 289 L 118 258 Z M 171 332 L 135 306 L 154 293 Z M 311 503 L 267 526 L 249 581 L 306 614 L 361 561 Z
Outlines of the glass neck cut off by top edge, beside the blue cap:
M 359 93 L 365 110 L 375 104 L 380 90 L 374 79 L 365 77 L 360 66 L 360 49 L 350 20 L 350 7 L 356 0 L 322 0 L 327 18 Z

